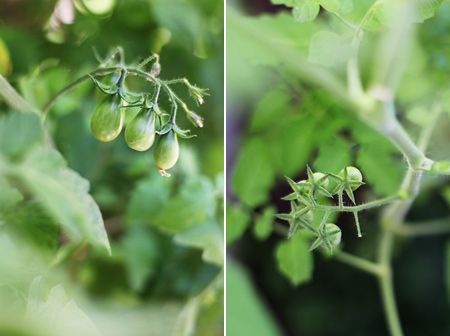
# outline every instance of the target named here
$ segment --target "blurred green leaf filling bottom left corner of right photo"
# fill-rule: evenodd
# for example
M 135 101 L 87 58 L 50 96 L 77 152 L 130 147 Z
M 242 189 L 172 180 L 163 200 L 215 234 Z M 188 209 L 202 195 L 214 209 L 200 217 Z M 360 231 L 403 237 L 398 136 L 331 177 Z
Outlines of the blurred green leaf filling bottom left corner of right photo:
M 281 336 L 269 309 L 245 269 L 227 260 L 227 335 Z

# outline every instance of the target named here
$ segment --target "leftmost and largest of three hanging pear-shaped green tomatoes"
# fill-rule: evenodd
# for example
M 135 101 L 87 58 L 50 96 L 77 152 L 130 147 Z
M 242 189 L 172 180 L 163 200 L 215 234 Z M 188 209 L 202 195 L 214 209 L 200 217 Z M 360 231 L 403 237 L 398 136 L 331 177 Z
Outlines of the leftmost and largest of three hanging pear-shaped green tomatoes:
M 91 131 L 98 140 L 114 140 L 122 131 L 124 113 L 120 108 L 121 100 L 118 93 L 108 95 L 92 114 Z

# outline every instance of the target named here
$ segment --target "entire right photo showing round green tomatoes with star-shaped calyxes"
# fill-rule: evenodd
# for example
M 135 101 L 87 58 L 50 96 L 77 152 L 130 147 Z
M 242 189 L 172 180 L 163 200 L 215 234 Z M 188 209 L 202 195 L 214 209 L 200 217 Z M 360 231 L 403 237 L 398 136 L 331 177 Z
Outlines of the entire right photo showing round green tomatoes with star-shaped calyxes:
M 226 334 L 448 335 L 450 3 L 226 8 Z

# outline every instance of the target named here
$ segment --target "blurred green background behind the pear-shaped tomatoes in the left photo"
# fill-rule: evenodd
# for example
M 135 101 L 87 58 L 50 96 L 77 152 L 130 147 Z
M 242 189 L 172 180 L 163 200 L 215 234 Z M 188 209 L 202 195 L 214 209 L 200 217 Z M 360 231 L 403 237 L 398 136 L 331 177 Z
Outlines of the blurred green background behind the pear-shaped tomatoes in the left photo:
M 55 103 L 46 120 L 50 142 L 90 182 L 112 256 L 71 241 L 20 179 L 2 176 L 0 334 L 223 334 L 223 9 L 223 1 L 207 0 L 0 2 L 0 73 L 37 110 L 98 65 L 95 51 L 105 57 L 117 46 L 127 64 L 158 53 L 160 78 L 186 77 L 210 94 L 196 106 L 185 87 L 174 87 L 204 127 L 180 109 L 179 126 L 197 136 L 180 139 L 170 179 L 157 172 L 151 149 L 130 149 L 123 132 L 110 143 L 93 137 L 90 116 L 101 94 L 91 81 Z M 3 130 L 17 113 L 1 103 Z M 125 125 L 136 113 L 127 110 Z M 23 122 L 34 129 L 33 120 Z M 3 159 L 14 141 L 30 139 L 21 131 L 0 139 Z M 31 154 L 24 155 L 22 163 Z M 52 320 L 52 311 L 61 315 Z

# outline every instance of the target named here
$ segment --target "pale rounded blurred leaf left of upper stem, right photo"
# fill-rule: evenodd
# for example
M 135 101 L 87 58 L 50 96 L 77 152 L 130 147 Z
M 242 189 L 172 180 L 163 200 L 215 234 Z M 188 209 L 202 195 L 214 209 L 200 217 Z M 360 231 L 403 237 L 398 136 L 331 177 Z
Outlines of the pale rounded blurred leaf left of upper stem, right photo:
M 350 55 L 350 40 L 331 31 L 321 31 L 311 39 L 308 61 L 326 67 L 344 63 Z

